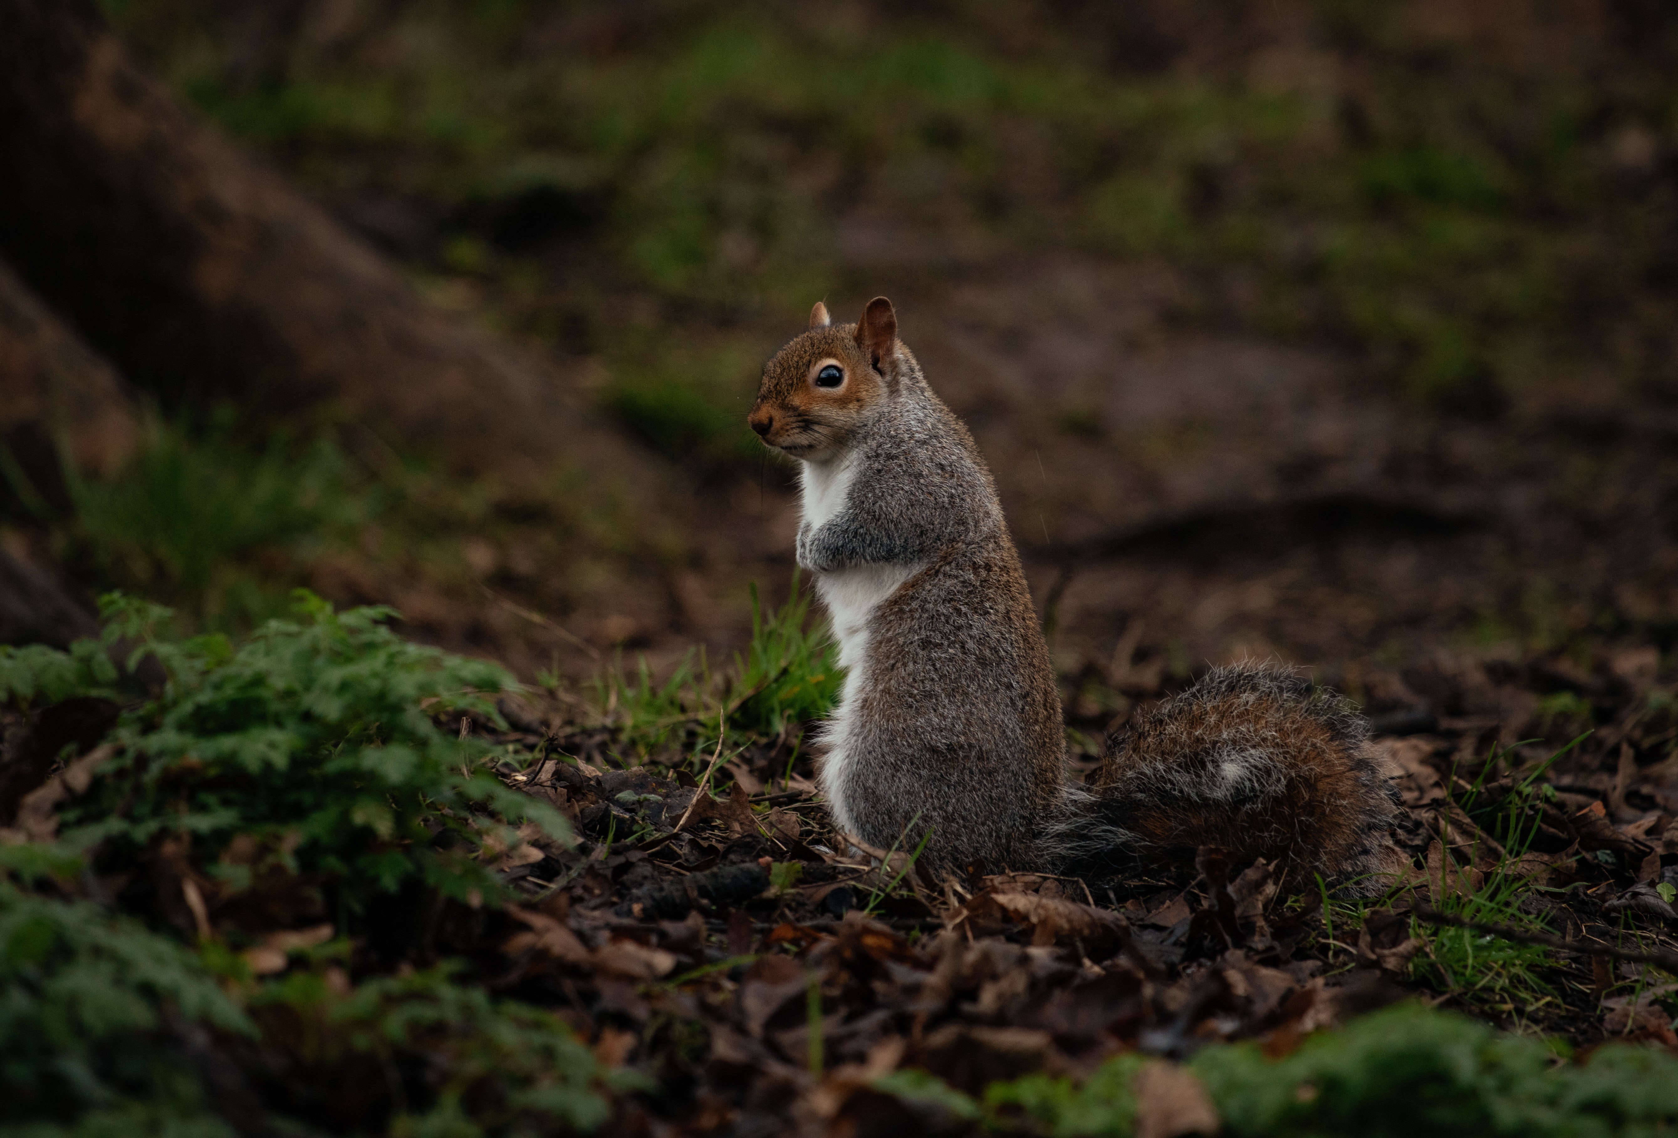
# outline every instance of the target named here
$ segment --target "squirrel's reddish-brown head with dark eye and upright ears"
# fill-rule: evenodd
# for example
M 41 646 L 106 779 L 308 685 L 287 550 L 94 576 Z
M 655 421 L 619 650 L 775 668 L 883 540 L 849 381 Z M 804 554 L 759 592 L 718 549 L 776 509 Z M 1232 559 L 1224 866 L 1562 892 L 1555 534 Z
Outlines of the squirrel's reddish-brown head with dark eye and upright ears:
M 899 349 L 898 314 L 886 297 L 869 300 L 856 324 L 834 324 L 817 302 L 809 331 L 763 364 L 747 423 L 794 458 L 832 458 L 896 389 Z

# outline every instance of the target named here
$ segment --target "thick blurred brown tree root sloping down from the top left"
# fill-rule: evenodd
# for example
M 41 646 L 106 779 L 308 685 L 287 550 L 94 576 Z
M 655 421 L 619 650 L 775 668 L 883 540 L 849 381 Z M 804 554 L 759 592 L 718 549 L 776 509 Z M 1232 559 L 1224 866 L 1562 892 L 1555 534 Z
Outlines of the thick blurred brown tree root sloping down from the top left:
M 0 250 L 166 410 L 349 420 L 463 472 L 597 448 L 550 368 L 431 309 L 143 74 L 91 3 L 0 0 Z

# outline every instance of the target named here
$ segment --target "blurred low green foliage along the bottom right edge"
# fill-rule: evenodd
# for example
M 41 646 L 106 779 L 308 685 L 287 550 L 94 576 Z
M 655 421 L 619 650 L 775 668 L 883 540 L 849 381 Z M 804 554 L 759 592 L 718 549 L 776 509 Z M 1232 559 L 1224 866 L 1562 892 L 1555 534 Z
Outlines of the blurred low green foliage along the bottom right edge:
M 993 1083 L 982 1103 L 925 1071 L 873 1086 L 926 1111 L 983 1120 L 990 1133 L 1129 1138 L 1136 1076 L 1149 1062 L 1159 1061 L 1118 1056 L 1082 1083 L 1049 1074 Z M 1319 1032 L 1282 1059 L 1252 1042 L 1218 1044 L 1185 1066 L 1235 1138 L 1576 1138 L 1678 1125 L 1678 1059 L 1668 1054 L 1609 1046 L 1562 1064 L 1544 1041 L 1413 1004 Z

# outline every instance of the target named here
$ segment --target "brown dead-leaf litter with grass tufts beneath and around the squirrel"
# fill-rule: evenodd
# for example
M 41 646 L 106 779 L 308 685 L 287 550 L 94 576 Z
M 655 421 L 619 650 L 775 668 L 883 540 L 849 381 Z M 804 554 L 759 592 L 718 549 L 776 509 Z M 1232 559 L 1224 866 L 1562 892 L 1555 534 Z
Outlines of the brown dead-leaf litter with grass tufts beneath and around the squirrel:
M 1129 693 L 1158 695 L 1146 683 Z M 1465 713 L 1472 690 L 1542 708 L 1556 742 L 1500 745 L 1507 718 Z M 718 742 L 718 765 L 705 754 L 715 720 L 710 733 L 666 720 L 646 760 L 624 765 L 624 735 L 574 718 L 522 705 L 519 728 L 493 735 L 554 755 L 505 770 L 587 836 L 508 873 L 529 930 L 508 942 L 508 984 L 596 1037 L 633 1037 L 664 1118 L 723 1111 L 737 1133 L 774 1133 L 826 1104 L 909 1125 L 909 1106 L 834 1086 L 913 1066 L 982 1096 L 1032 1071 L 1087 1078 L 1138 1047 L 1181 1057 L 1260 1039 L 1282 1056 L 1406 995 L 1581 1051 L 1678 1046 L 1678 759 L 1638 762 L 1678 737 L 1653 651 L 1462 665 L 1378 713 L 1413 869 L 1368 901 L 1282 891 L 1274 866 L 1217 849 L 1153 880 L 938 881 L 913 851 L 859 849 L 832 829 L 795 730 Z M 1102 723 L 1086 727 L 1096 739 Z M 654 974 L 685 982 L 628 982 Z M 663 1027 L 675 1021 L 705 1022 L 708 1049 Z M 826 1093 L 805 1074 L 812 1047 Z

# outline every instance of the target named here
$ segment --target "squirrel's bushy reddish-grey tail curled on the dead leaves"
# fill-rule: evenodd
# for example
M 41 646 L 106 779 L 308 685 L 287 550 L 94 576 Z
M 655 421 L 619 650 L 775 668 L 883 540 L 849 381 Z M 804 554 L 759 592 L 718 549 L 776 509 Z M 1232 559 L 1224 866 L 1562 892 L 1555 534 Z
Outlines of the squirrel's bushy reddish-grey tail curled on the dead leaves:
M 1267 858 L 1379 893 L 1401 868 L 1388 834 L 1399 799 L 1342 697 L 1277 665 L 1206 676 L 1107 739 L 1102 765 L 1049 834 L 1081 871 L 1158 864 L 1200 846 Z

